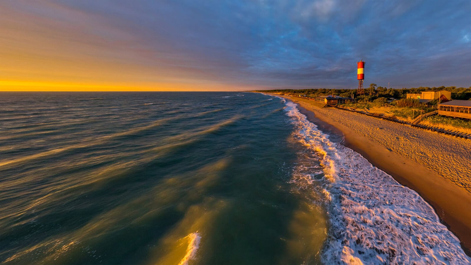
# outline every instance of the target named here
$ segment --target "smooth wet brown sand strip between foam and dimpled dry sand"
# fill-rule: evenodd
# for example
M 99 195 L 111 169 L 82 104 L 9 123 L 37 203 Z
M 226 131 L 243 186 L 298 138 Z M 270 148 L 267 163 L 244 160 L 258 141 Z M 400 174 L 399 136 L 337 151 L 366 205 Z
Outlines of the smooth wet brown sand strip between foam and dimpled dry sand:
M 292 100 L 290 96 L 270 95 Z M 343 134 L 342 145 L 365 157 L 373 166 L 391 175 L 401 185 L 419 193 L 433 207 L 440 221 L 460 240 L 463 250 L 470 256 L 471 212 L 464 210 L 471 209 L 470 192 L 422 164 L 333 121 L 320 113 L 316 107 L 302 101 L 292 101 L 298 104 L 300 112 L 306 115 L 310 122 L 317 124 L 321 131 L 327 134 Z

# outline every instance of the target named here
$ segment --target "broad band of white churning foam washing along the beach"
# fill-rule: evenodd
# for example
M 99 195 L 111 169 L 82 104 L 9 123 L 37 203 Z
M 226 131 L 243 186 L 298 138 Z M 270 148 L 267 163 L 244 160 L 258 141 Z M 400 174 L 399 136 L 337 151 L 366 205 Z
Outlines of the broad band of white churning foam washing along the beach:
M 330 200 L 325 264 L 471 263 L 417 192 L 352 149 L 329 141 L 296 104 L 286 106 L 297 140 L 317 153 L 325 174 L 324 194 Z

